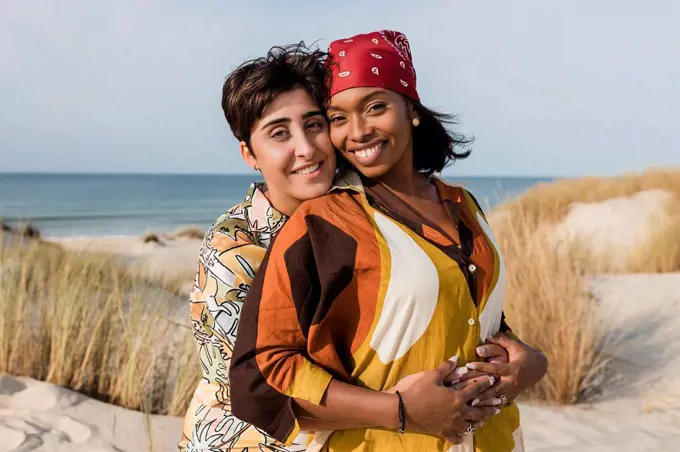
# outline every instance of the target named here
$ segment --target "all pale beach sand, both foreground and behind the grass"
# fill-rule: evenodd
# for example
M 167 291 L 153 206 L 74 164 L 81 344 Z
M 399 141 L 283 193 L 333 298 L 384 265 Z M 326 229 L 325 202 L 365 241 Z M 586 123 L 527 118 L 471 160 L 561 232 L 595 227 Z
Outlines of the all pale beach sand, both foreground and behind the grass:
M 640 192 L 601 203 L 575 203 L 553 234 L 563 243 L 591 241 L 623 259 L 635 243 L 617 246 L 634 231 L 645 240 L 669 194 Z M 637 215 L 630 215 L 635 211 Z M 502 218 L 503 213 L 498 212 Z M 605 240 L 606 238 L 606 240 Z M 71 251 L 110 253 L 149 275 L 172 275 L 188 288 L 201 240 L 141 237 L 54 239 Z M 600 390 L 587 403 L 541 406 L 522 402 L 527 451 L 677 450 L 680 441 L 680 273 L 612 273 L 585 276 L 607 325 L 611 358 Z M 181 299 L 181 296 L 180 296 Z M 179 301 L 181 303 L 181 300 Z M 176 321 L 186 321 L 178 309 Z M 181 417 L 138 411 L 26 377 L 0 377 L 3 451 L 174 450 Z M 149 427 L 150 425 L 150 427 Z M 148 432 L 151 433 L 149 438 Z

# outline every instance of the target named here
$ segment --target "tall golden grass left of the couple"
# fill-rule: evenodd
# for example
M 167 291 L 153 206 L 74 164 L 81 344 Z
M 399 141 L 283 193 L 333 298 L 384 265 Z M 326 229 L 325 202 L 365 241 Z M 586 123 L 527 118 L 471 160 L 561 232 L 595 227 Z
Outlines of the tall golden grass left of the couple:
M 181 415 L 199 366 L 190 330 L 170 317 L 174 296 L 109 256 L 2 247 L 0 373 Z

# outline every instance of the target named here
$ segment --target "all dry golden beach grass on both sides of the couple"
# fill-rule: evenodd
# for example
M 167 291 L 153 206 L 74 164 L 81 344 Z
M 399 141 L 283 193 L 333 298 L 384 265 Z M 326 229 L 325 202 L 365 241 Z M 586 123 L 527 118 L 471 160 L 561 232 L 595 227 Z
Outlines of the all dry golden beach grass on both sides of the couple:
M 547 377 L 527 399 L 555 404 L 587 399 L 606 382 L 603 371 L 611 359 L 604 351 L 611 347 L 603 345 L 613 326 L 598 317 L 584 278 L 610 272 L 610 262 L 589 255 L 587 244 L 564 248 L 545 231 L 565 219 L 574 202 L 651 189 L 672 198 L 624 270 L 677 271 L 680 172 L 558 181 L 491 215 L 508 271 L 509 323 L 550 359 Z M 176 235 L 197 237 L 188 231 Z M 188 276 L 169 281 L 100 251 L 73 252 L 40 241 L 0 247 L 0 373 L 45 380 L 136 410 L 182 415 L 200 378 L 185 306 Z M 173 250 L 158 252 L 167 260 Z

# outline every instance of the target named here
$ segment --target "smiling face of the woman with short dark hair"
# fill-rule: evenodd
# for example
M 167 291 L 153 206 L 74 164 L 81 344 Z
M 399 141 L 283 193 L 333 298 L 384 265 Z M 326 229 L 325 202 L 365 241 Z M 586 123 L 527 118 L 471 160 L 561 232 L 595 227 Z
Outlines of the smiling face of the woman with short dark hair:
M 307 90 L 278 95 L 253 124 L 250 145 L 241 155 L 257 166 L 274 207 L 290 215 L 302 201 L 324 195 L 335 174 L 335 151 L 328 124 Z M 254 154 L 254 155 L 253 155 Z

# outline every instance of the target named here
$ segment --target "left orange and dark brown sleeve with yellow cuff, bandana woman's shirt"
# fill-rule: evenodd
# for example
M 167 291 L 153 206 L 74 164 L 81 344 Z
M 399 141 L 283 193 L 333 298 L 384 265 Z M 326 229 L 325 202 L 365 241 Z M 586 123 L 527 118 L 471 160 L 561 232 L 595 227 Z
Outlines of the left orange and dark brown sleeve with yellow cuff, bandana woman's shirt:
M 290 218 L 248 292 L 231 362 L 232 410 L 290 444 L 299 432 L 292 398 L 321 402 L 332 379 L 307 350 L 320 285 L 304 214 Z

